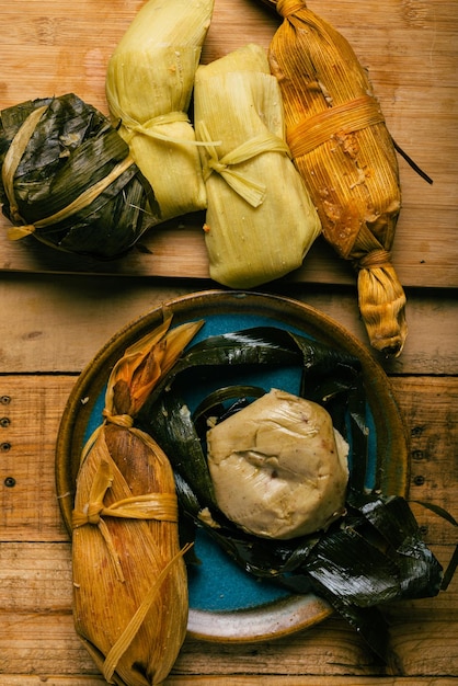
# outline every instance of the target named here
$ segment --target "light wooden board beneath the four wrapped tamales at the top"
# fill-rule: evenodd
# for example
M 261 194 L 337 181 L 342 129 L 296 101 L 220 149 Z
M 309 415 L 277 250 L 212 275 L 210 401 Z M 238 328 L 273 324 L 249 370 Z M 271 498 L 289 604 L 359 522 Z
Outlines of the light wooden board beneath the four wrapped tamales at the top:
M 0 108 L 75 92 L 107 113 L 107 60 L 142 0 L 0 2 Z M 434 180 L 400 159 L 403 208 L 393 263 L 405 286 L 458 287 L 458 3 L 456 0 L 310 0 L 368 68 L 396 141 Z M 215 0 L 202 60 L 249 42 L 265 49 L 280 18 L 259 0 Z M 202 218 L 152 229 L 129 255 L 100 263 L 30 238 L 12 242 L 0 217 L 0 271 L 208 278 Z M 350 284 L 351 266 L 320 238 L 288 279 Z

